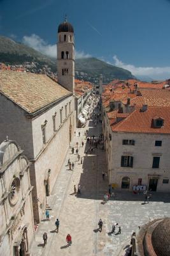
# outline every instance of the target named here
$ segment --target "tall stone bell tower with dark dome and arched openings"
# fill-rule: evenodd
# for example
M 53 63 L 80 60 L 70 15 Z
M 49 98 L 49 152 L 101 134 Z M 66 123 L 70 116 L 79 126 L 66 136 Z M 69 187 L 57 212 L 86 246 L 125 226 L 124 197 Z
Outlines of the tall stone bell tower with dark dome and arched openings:
M 74 58 L 74 29 L 65 18 L 58 28 L 57 79 L 60 85 L 73 93 Z

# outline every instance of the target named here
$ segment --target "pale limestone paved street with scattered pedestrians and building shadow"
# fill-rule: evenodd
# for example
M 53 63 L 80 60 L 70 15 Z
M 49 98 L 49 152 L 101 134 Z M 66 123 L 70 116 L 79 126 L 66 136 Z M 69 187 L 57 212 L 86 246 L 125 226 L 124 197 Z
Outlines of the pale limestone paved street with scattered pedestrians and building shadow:
M 143 195 L 133 195 L 127 191 L 116 191 L 115 200 L 107 204 L 101 204 L 103 194 L 108 191 L 108 180 L 102 179 L 102 171 L 106 170 L 105 152 L 96 149 L 93 154 L 85 156 L 88 148 L 84 132 L 89 129 L 89 136 L 99 136 L 101 125 L 76 130 L 71 147 L 74 146 L 74 154 L 71 148 L 67 152 L 66 159 L 60 170 L 52 195 L 48 196 L 50 221 L 44 216 L 36 232 L 35 241 L 32 243 L 31 252 L 39 255 L 124 255 L 120 253 L 122 247 L 129 243 L 132 231 L 138 230 L 138 226 L 153 220 L 153 218 L 170 217 L 170 195 L 152 193 L 149 204 L 143 204 Z M 78 132 L 81 136 L 78 136 Z M 83 164 L 80 164 L 75 154 L 76 141 L 80 156 L 83 156 Z M 84 141 L 84 147 L 81 147 Z M 70 171 L 67 161 L 74 161 L 74 170 Z M 74 195 L 76 188 L 81 185 L 81 195 Z M 59 233 L 55 232 L 55 220 L 59 218 Z M 103 220 L 102 232 L 97 232 L 99 218 Z M 111 225 L 118 222 L 122 227 L 122 233 L 110 234 Z M 43 247 L 43 233 L 48 233 L 48 241 Z M 73 244 L 66 247 L 66 236 L 71 234 Z

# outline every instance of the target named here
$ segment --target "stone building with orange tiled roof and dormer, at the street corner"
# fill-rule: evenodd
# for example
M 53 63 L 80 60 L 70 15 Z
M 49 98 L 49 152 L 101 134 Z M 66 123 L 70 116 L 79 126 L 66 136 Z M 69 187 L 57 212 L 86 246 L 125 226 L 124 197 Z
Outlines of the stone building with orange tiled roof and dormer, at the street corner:
M 148 107 L 144 112 L 106 113 L 103 133 L 108 174 L 118 189 L 146 185 L 152 191 L 169 192 L 170 108 Z M 162 117 L 164 124 L 154 126 Z M 139 187 L 140 188 L 140 187 Z

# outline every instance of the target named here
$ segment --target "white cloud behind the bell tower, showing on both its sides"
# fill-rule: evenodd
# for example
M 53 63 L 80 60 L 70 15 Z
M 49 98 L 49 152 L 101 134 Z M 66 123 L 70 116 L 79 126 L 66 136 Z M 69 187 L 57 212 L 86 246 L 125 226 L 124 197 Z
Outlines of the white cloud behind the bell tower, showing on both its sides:
M 48 44 L 38 35 L 24 36 L 22 42 L 47 56 L 57 58 L 57 45 Z M 84 51 L 75 51 L 75 56 L 76 59 L 91 57 L 90 54 L 86 54 Z

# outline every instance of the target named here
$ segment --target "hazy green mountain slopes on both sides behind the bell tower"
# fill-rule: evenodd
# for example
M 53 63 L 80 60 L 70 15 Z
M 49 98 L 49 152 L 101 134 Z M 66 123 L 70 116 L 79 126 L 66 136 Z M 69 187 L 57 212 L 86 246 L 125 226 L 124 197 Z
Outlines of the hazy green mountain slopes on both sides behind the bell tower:
M 15 42 L 5 36 L 0 36 L 0 62 L 10 65 L 27 63 L 30 72 L 56 72 L 55 58 L 50 58 L 41 52 L 20 42 Z M 124 68 L 115 67 L 97 58 L 82 58 L 75 60 L 75 77 L 92 83 L 98 83 L 99 75 L 103 75 L 103 83 L 113 79 L 134 78 L 131 72 Z

